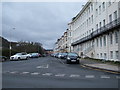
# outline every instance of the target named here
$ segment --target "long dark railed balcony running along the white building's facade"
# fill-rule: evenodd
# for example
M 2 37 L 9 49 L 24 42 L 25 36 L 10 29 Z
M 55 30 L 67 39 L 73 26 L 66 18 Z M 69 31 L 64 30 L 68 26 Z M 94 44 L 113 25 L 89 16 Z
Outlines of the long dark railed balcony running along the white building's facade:
M 120 27 L 120 18 L 106 24 L 105 26 L 97 29 L 96 31 L 92 32 L 90 35 L 84 37 L 84 38 L 81 38 L 80 40 L 72 43 L 72 46 L 75 46 L 75 45 L 78 45 L 78 44 L 81 44 L 81 43 L 84 43 L 86 41 L 89 41 L 89 40 L 92 40 L 102 34 L 105 34 L 105 33 L 108 33 L 110 31 L 113 31 L 115 29 L 118 29 Z

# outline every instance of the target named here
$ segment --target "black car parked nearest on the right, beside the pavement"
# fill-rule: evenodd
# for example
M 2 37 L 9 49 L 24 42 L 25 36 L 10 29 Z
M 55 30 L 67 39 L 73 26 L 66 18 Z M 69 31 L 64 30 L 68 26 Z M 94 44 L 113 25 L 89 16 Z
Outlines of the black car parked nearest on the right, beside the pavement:
M 79 56 L 77 53 L 68 53 L 66 57 L 66 63 L 77 63 L 79 64 Z

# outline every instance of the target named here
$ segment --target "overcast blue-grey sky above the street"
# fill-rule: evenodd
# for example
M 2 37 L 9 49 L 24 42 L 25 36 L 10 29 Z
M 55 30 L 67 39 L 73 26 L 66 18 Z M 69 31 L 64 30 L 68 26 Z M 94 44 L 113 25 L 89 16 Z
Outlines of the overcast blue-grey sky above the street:
M 85 2 L 4 2 L 2 36 L 12 41 L 34 41 L 52 49 Z M 15 28 L 13 30 L 13 28 Z

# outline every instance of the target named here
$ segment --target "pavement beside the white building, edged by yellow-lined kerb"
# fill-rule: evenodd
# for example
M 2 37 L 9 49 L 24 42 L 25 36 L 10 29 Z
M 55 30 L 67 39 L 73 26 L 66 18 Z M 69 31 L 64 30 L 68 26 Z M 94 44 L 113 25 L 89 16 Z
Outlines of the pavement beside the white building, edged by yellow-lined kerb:
M 92 59 L 81 59 L 80 60 L 83 67 L 102 70 L 110 73 L 120 74 L 120 66 L 109 64 L 107 62 L 95 61 Z

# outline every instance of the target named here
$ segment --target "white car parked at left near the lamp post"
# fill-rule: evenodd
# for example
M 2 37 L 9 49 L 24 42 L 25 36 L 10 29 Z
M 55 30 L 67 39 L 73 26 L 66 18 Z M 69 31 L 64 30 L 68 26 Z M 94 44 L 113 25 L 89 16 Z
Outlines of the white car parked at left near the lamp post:
M 27 53 L 16 53 L 15 55 L 10 57 L 10 60 L 21 60 L 28 59 Z

